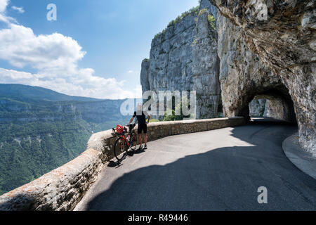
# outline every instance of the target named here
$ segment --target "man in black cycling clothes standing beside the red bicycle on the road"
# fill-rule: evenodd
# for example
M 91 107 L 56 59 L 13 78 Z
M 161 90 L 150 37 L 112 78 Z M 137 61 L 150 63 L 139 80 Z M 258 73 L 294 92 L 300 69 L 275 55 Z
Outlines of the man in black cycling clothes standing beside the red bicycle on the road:
M 148 121 L 146 122 L 146 116 L 148 117 Z M 131 120 L 129 123 L 131 124 L 134 120 L 134 118 L 137 117 L 138 121 L 138 143 L 140 144 L 138 150 L 143 148 L 143 140 L 142 140 L 142 131 L 144 132 L 145 136 L 145 149 L 147 149 L 147 123 L 150 122 L 150 115 L 145 111 L 143 111 L 143 106 L 138 104 L 137 105 L 137 111 L 134 113 L 133 117 L 131 117 Z

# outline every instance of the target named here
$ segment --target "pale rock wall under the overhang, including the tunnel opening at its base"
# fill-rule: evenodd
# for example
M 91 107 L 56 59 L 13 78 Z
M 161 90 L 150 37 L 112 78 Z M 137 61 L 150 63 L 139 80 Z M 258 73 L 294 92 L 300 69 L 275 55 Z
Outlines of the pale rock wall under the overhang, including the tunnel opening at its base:
M 295 122 L 287 87 L 282 83 L 281 77 L 263 63 L 258 54 L 249 49 L 242 29 L 223 15 L 218 16 L 217 26 L 220 86 L 223 90 L 225 115 L 261 115 Z M 251 101 L 253 98 L 255 99 Z M 259 98 L 268 101 L 257 103 Z

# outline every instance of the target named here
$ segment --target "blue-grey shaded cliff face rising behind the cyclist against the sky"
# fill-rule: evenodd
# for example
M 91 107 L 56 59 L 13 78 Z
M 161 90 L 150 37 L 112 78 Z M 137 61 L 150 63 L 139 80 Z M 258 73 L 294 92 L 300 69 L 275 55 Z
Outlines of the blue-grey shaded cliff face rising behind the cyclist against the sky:
M 201 11 L 202 7 L 206 10 Z M 217 34 L 211 11 L 217 9 L 202 1 L 194 13 L 158 34 L 140 76 L 143 91 L 197 91 L 197 118 L 217 117 L 220 104 Z

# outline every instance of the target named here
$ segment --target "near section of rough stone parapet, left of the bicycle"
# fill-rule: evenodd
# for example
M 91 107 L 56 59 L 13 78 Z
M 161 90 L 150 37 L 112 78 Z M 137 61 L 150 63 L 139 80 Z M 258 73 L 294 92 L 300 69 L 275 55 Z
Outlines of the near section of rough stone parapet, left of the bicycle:
M 102 158 L 97 150 L 86 150 L 62 167 L 1 195 L 0 210 L 72 210 L 96 180 Z

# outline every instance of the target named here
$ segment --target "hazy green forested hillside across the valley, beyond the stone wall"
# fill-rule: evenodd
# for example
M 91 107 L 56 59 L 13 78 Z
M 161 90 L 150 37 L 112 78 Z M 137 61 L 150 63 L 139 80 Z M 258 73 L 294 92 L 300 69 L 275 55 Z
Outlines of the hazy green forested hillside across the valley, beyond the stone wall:
M 76 158 L 93 132 L 128 123 L 123 101 L 0 84 L 0 195 Z

